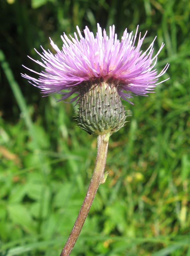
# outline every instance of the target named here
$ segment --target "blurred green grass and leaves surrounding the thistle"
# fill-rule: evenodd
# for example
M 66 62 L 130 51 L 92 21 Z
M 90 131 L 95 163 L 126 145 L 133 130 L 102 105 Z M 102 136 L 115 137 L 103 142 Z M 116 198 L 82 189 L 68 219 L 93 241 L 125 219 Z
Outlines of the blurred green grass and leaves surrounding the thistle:
M 149 97 L 123 102 L 129 123 L 110 138 L 106 171 L 72 256 L 190 256 L 190 2 L 0 0 L 0 255 L 59 255 L 92 175 L 97 138 L 76 126 L 77 106 L 41 97 L 21 78 L 40 71 L 34 47 L 96 23 L 120 39 L 162 42 L 170 67 Z M 109 33 L 108 33 L 109 34 Z M 29 72 L 28 72 L 29 73 Z

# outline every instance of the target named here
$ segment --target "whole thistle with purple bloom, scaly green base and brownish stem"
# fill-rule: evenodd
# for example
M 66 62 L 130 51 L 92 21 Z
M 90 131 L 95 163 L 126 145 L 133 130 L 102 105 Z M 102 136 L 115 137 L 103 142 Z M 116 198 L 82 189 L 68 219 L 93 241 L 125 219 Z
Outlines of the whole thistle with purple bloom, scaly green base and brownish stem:
M 60 256 L 70 255 L 96 191 L 108 175 L 104 173 L 104 169 L 110 135 L 126 123 L 127 116 L 121 99 L 132 103 L 130 98 L 134 95 L 147 96 L 154 91 L 156 85 L 165 81 L 158 80 L 169 67 L 169 64 L 166 64 L 163 70 L 157 73 L 155 68 L 157 56 L 164 44 L 153 56 L 156 38 L 142 53 L 140 48 L 146 33 L 142 38 L 140 33 L 135 46 L 138 27 L 134 36 L 133 32 L 129 34 L 125 29 L 121 41 L 117 39 L 114 25 L 110 27 L 109 37 L 105 29 L 102 33 L 99 24 L 97 24 L 96 36 L 87 27 L 84 29 L 84 37 L 79 27 L 77 32 L 79 38 L 76 33 L 74 38 L 70 36 L 70 39 L 65 34 L 61 36 L 62 50 L 50 39 L 56 54 L 43 48 L 42 54 L 37 52 L 42 61 L 34 61 L 42 66 L 43 71 L 38 73 L 27 69 L 37 74 L 38 78 L 22 74 L 45 95 L 58 93 L 61 94 L 60 100 L 65 100 L 77 94 L 71 101 L 77 100 L 79 103 L 78 125 L 88 133 L 97 135 L 97 157 L 92 179 Z

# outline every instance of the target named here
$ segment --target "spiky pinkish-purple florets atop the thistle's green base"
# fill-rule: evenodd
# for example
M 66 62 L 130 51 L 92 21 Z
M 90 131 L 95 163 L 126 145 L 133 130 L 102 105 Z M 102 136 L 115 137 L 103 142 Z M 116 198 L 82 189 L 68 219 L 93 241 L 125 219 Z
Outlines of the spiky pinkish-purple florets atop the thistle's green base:
M 125 29 L 121 42 L 117 39 L 114 25 L 110 27 L 109 37 L 106 35 L 105 29 L 102 35 L 99 24 L 97 24 L 95 37 L 87 27 L 84 29 L 85 37 L 82 36 L 78 26 L 77 31 L 80 40 L 76 33 L 74 33 L 74 38 L 70 36 L 71 39 L 65 33 L 64 36 L 61 36 L 62 50 L 50 39 L 52 47 L 57 52 L 55 55 L 43 48 L 42 54 L 36 51 L 42 61 L 34 60 L 34 62 L 41 65 L 45 71 L 38 73 L 27 69 L 39 75 L 39 78 L 22 74 L 24 78 L 30 80 L 31 84 L 40 88 L 42 93 L 62 94 L 61 100 L 65 100 L 73 93 L 78 93 L 72 99 L 74 101 L 80 96 L 87 81 L 91 84 L 105 82 L 117 86 L 119 96 L 129 101 L 128 99 L 133 95 L 145 96 L 152 92 L 157 84 L 167 80 L 157 83 L 169 64 L 163 68 L 160 74 L 157 74 L 156 68 L 154 68 L 157 56 L 164 44 L 153 57 L 155 38 L 146 52 L 142 53 L 140 48 L 146 33 L 142 38 L 140 33 L 138 44 L 135 47 L 138 27 L 134 37 L 132 36 L 133 32 L 129 34 Z

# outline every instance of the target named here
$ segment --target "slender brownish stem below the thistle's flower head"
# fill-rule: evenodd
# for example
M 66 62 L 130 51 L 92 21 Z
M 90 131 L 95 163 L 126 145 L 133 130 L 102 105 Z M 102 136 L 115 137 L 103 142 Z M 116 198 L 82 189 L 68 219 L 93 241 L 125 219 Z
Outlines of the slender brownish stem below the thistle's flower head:
M 108 152 L 108 141 L 110 138 L 111 133 L 98 135 L 97 139 L 97 156 L 96 156 L 96 163 L 95 163 L 95 169 L 92 175 L 92 179 L 90 181 L 90 185 L 87 190 L 87 194 L 84 198 L 83 204 L 80 208 L 80 212 L 78 214 L 78 217 L 75 221 L 74 227 L 72 228 L 71 234 L 69 235 L 69 238 L 60 254 L 60 256 L 69 256 L 72 248 L 74 247 L 74 244 L 77 241 L 77 238 L 80 235 L 80 231 L 84 225 L 84 222 L 87 218 L 88 212 L 90 210 L 90 207 L 94 201 L 95 194 L 97 192 L 97 189 L 100 185 L 100 183 L 104 183 L 104 169 L 106 164 L 106 157 Z M 105 177 L 107 177 L 105 175 Z

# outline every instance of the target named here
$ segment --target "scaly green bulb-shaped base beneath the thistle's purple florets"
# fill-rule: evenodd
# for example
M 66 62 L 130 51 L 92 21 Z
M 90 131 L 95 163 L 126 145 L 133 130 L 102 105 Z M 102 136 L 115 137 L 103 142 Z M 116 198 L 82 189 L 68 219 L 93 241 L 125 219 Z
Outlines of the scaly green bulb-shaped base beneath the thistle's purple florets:
M 96 135 L 117 132 L 126 123 L 125 110 L 117 86 L 106 82 L 80 84 L 77 119 L 79 126 Z

